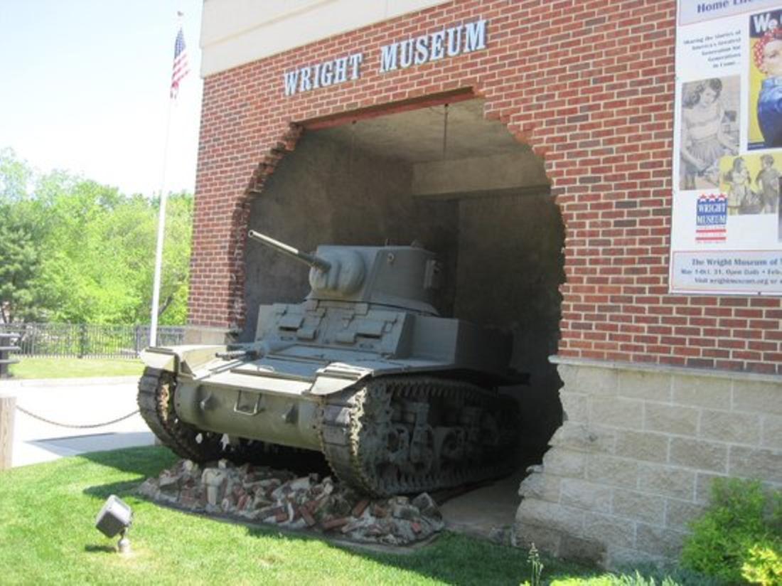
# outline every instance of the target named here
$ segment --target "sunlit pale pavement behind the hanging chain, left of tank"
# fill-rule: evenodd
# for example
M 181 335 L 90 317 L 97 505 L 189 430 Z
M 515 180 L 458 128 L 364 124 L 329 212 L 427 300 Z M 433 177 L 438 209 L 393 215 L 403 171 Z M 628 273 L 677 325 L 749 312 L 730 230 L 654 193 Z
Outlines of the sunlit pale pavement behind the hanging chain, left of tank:
M 85 426 L 136 411 L 138 377 L 0 381 L 0 394 L 16 397 L 16 406 L 52 422 Z M 88 451 L 154 444 L 141 415 L 109 426 L 63 427 L 16 410 L 12 466 L 49 462 Z

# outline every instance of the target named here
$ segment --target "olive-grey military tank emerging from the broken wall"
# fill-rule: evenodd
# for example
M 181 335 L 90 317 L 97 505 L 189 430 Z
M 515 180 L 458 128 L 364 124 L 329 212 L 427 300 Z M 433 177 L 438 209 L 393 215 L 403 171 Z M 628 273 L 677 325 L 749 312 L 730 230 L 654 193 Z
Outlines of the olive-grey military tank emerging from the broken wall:
M 171 450 L 290 466 L 321 452 L 339 480 L 373 496 L 435 491 L 518 464 L 519 414 L 499 387 L 511 337 L 440 317 L 436 255 L 411 246 L 296 250 L 300 304 L 261 305 L 250 343 L 149 347 L 138 406 Z

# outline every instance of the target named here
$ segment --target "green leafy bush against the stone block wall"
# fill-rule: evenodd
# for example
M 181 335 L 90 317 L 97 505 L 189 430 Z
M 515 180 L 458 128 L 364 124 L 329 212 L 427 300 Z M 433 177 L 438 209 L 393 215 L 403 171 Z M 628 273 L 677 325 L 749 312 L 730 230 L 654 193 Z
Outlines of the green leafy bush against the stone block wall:
M 733 584 L 780 583 L 780 491 L 764 491 L 757 480 L 718 478 L 711 504 L 691 530 L 682 550 L 683 566 Z

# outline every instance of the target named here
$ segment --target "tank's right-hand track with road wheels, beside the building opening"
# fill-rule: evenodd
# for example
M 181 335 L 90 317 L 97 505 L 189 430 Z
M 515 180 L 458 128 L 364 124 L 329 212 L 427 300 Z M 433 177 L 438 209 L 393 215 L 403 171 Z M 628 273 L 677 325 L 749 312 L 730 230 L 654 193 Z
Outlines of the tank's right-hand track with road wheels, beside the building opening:
M 336 476 L 378 497 L 472 484 L 518 464 L 518 406 L 470 383 L 378 377 L 325 397 L 320 417 Z

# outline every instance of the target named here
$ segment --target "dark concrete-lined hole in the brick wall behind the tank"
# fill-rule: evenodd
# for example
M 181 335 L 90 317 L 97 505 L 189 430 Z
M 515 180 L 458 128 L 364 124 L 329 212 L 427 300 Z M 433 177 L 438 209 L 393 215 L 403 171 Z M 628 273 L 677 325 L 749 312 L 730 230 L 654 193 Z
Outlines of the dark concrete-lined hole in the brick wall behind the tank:
M 530 372 L 511 388 L 524 414 L 526 459 L 540 460 L 561 424 L 557 351 L 564 228 L 543 162 L 479 99 L 305 131 L 264 192 L 249 228 L 303 250 L 319 243 L 378 246 L 418 239 L 446 268 L 442 315 L 509 329 L 512 365 Z M 258 306 L 299 303 L 307 270 L 253 242 L 246 253 L 246 329 Z M 518 501 L 511 482 L 513 502 Z

